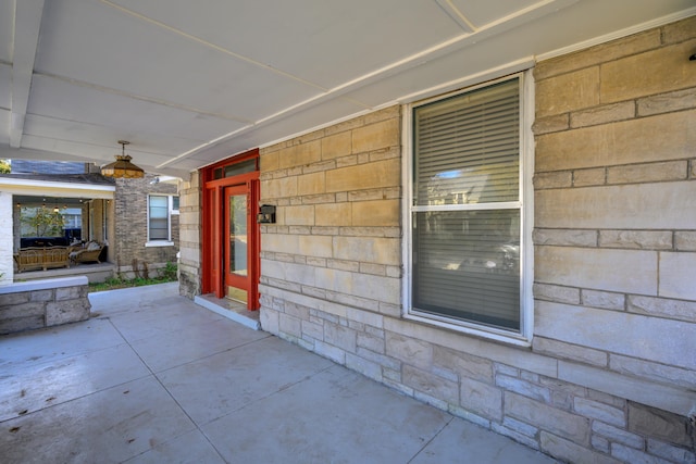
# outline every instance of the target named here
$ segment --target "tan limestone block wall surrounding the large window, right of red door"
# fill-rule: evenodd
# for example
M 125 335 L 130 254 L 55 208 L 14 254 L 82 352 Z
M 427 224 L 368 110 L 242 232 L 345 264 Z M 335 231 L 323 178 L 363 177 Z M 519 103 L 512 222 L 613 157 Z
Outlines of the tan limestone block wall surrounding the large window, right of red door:
M 261 149 L 262 328 L 564 461 L 696 461 L 695 33 L 536 66 L 531 348 L 401 317 L 398 106 Z

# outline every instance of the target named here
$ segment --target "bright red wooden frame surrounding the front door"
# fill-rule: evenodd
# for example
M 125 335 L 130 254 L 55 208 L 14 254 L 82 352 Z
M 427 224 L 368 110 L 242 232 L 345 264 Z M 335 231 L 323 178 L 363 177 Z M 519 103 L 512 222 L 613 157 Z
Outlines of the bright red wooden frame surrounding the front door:
M 215 179 L 215 170 L 235 164 L 249 159 L 257 159 L 257 171 L 240 174 L 234 177 Z M 259 278 L 261 276 L 261 229 L 256 221 L 256 206 L 259 204 L 259 150 L 254 149 L 223 160 L 201 170 L 202 204 L 201 204 L 201 293 L 215 293 L 216 298 L 224 298 L 224 204 L 225 187 L 246 185 L 248 191 L 247 227 L 249 231 L 248 242 L 248 268 L 250 288 L 247 309 L 259 309 Z

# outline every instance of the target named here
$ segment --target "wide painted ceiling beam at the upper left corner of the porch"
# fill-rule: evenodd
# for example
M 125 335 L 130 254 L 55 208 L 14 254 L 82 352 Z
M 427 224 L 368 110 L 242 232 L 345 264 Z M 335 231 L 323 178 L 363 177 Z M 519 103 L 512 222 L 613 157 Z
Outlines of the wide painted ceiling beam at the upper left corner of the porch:
M 14 11 L 14 51 L 12 57 L 12 102 L 10 147 L 22 146 L 24 120 L 29 104 L 34 60 L 39 42 L 44 0 L 17 0 Z

